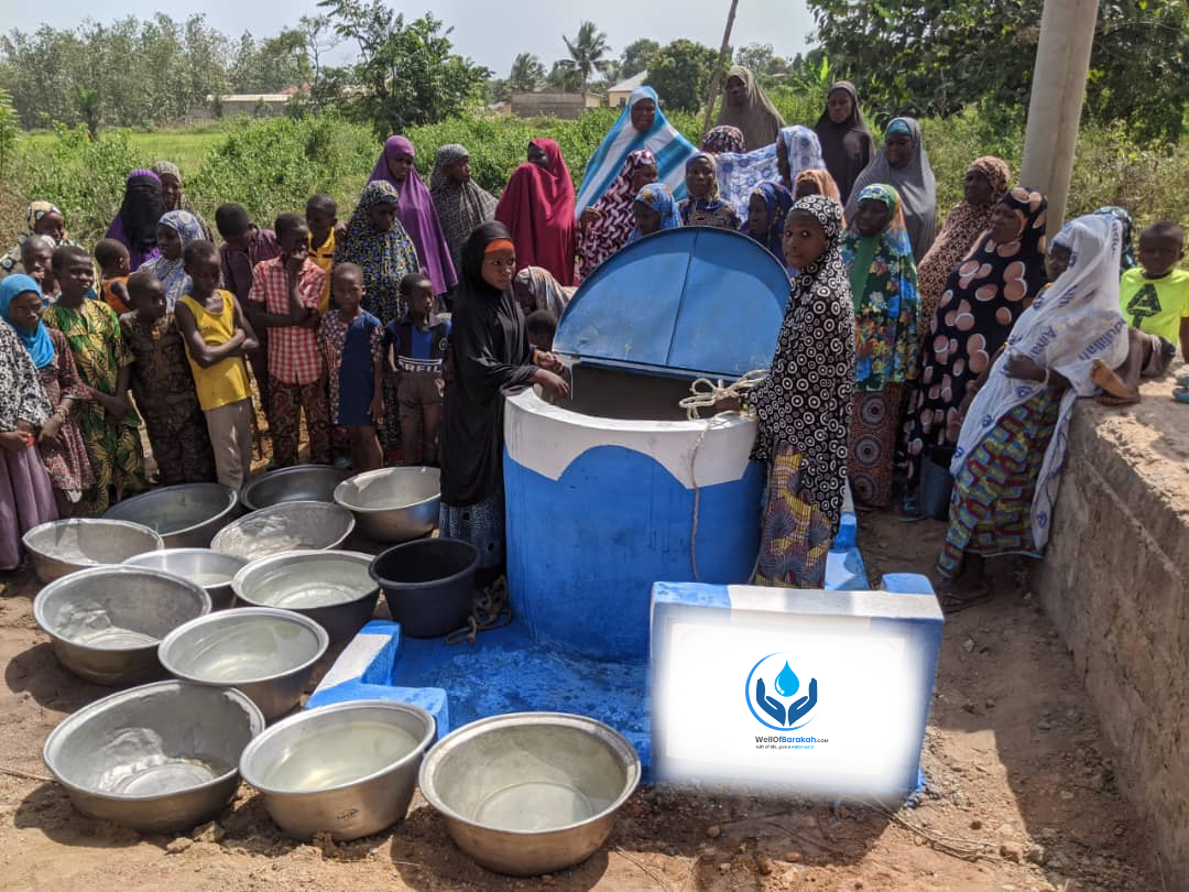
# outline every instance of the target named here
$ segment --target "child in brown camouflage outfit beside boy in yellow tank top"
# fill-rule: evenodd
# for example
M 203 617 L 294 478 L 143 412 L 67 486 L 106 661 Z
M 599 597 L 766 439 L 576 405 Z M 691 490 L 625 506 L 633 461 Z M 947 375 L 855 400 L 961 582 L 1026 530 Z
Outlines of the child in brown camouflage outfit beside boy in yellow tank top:
M 120 316 L 120 331 L 132 352 L 132 395 L 149 428 L 159 479 L 166 486 L 213 480 L 207 420 L 165 287 L 139 270 L 128 276 L 127 294 L 132 309 Z

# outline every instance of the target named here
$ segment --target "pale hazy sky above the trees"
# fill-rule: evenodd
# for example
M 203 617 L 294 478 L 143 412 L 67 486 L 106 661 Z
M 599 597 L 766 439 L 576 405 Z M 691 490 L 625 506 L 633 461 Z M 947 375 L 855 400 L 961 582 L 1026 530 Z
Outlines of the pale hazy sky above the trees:
M 585 8 L 578 4 L 547 4 L 541 0 L 421 0 L 391 5 L 403 12 L 407 20 L 433 7 L 435 17 L 446 26 L 454 27 L 451 40 L 455 52 L 486 65 L 497 76 L 507 76 L 518 52 L 539 56 L 546 68 L 555 59 L 565 58 L 566 45 L 561 36 L 573 37 L 583 18 L 591 19 L 600 31 L 606 32 L 611 55 L 616 58 L 624 46 L 641 37 L 660 44 L 685 37 L 717 49 L 723 39 L 730 1 L 597 0 Z M 115 0 L 101 7 L 96 7 L 94 0 L 56 0 L 49 6 L 18 4 L 5 13 L 4 29 L 34 31 L 43 24 L 69 29 L 88 15 L 105 23 L 127 15 L 144 19 L 161 8 L 159 0 Z M 277 8 L 284 12 L 276 15 Z M 282 27 L 296 25 L 302 15 L 319 12 L 316 0 L 294 0 L 282 7 L 244 0 L 175 0 L 168 6 L 168 14 L 177 20 L 205 13 L 210 26 L 231 37 L 239 37 L 244 31 L 268 37 Z M 791 57 L 805 50 L 812 30 L 813 19 L 805 0 L 740 0 L 731 45 L 740 48 L 749 43 L 766 43 L 772 44 L 778 56 Z M 340 58 L 334 61 L 341 62 L 346 51 L 347 48 L 341 48 L 335 54 Z

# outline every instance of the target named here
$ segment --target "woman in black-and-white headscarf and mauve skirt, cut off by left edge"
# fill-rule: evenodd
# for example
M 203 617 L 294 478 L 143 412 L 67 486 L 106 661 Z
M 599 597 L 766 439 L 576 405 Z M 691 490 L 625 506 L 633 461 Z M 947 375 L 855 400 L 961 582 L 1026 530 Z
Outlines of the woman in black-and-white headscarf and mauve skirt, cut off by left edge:
M 0 570 L 20 566 L 20 538 L 58 516 L 34 447 L 52 410 L 17 332 L 0 325 Z

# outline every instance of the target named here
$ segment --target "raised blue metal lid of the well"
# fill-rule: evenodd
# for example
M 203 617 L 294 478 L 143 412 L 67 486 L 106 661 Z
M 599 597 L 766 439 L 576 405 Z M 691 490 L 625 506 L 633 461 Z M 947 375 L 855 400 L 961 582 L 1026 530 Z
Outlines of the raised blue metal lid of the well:
M 747 235 L 662 230 L 583 282 L 553 348 L 600 365 L 737 378 L 772 363 L 788 290 L 780 262 Z

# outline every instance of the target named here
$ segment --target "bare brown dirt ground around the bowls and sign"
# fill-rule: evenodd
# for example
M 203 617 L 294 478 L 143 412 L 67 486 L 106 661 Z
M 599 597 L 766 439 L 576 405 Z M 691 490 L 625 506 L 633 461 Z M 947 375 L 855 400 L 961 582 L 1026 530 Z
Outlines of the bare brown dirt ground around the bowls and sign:
M 938 523 L 863 515 L 873 579 L 927 572 Z M 31 572 L 0 574 L 0 886 L 132 890 L 1165 890 L 1145 827 L 1071 660 L 1023 585 L 948 621 L 916 808 L 891 814 L 744 793 L 642 789 L 608 844 L 540 879 L 464 856 L 420 797 L 395 829 L 335 846 L 284 837 L 241 787 L 199 838 L 140 836 L 81 817 L 40 752 L 70 710 L 108 693 L 55 661 L 31 615 Z M 380 611 L 384 610 L 382 605 Z

